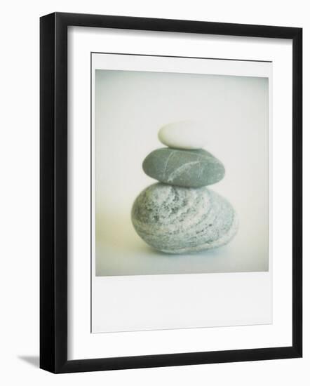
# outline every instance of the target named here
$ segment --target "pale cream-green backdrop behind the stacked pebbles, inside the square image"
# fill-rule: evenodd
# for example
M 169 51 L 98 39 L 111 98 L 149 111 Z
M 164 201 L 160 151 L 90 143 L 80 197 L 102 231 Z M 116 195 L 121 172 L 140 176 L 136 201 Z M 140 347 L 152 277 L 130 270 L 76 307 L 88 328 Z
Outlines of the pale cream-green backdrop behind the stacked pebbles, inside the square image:
M 268 79 L 102 69 L 95 76 L 96 274 L 267 271 Z M 159 128 L 187 119 L 202 122 L 205 149 L 225 166 L 210 189 L 234 206 L 239 229 L 227 246 L 168 255 L 137 236 L 130 210 L 156 182 L 142 161 L 163 147 Z

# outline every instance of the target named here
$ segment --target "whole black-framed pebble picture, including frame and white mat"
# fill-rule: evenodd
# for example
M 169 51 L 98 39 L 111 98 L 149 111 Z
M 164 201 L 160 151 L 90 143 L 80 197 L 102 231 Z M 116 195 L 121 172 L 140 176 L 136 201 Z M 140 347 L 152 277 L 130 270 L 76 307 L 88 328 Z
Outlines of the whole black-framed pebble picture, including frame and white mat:
M 302 29 L 40 25 L 41 368 L 302 357 Z

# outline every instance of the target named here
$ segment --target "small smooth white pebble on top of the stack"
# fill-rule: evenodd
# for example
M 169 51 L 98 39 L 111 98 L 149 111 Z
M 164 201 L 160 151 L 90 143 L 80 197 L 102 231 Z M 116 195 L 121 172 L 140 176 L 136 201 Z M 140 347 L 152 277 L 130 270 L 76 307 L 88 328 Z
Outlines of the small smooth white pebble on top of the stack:
M 194 121 L 172 122 L 159 130 L 161 143 L 175 149 L 201 149 L 206 136 L 205 128 Z

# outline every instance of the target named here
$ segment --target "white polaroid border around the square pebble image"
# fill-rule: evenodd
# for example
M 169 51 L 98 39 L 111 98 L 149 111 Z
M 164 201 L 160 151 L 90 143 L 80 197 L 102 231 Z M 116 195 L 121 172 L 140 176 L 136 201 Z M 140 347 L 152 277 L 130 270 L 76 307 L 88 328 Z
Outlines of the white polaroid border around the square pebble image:
M 92 53 L 91 62 L 93 149 L 96 69 L 260 76 L 269 79 L 271 94 L 271 62 L 113 53 Z M 95 213 L 95 152 L 92 157 L 92 213 Z M 92 220 L 92 333 L 271 324 L 271 250 L 269 272 L 96 277 L 95 215 Z

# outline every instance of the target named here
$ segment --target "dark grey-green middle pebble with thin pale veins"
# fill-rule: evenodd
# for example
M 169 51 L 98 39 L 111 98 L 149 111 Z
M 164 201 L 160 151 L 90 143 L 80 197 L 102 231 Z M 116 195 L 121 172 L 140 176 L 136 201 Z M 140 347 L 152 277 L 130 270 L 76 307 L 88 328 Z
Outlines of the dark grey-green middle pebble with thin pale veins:
M 155 180 L 181 187 L 212 185 L 225 174 L 222 162 L 203 149 L 156 149 L 144 159 L 142 168 Z

